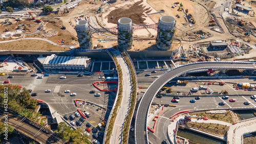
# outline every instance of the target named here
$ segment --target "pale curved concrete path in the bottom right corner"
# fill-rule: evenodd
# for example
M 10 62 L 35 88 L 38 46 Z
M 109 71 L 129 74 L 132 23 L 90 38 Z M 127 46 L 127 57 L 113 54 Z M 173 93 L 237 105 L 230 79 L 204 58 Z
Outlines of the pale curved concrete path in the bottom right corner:
M 243 135 L 256 131 L 256 118 L 246 119 L 230 126 L 227 143 L 243 143 Z

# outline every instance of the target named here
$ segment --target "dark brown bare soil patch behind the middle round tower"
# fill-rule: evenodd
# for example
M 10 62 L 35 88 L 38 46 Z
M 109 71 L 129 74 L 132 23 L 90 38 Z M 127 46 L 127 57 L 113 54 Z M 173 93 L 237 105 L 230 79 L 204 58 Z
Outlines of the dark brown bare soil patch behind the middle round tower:
M 133 23 L 144 24 L 143 21 L 146 19 L 143 18 L 145 17 L 143 12 L 150 13 L 151 10 L 149 10 L 150 8 L 144 9 L 145 6 L 141 4 L 142 2 L 143 1 L 139 1 L 133 5 L 125 5 L 123 7 L 111 11 L 108 15 L 108 22 L 116 24 L 118 22 L 118 19 L 122 17 L 128 17 L 132 19 Z M 112 16 L 113 19 L 111 19 Z

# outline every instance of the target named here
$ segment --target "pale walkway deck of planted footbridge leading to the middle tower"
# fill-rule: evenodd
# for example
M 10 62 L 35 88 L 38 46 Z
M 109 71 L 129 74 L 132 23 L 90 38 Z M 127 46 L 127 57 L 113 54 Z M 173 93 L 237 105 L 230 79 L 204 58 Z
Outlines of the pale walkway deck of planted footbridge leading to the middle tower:
M 129 66 L 125 62 L 123 56 L 119 51 L 112 51 L 117 58 L 117 62 L 122 69 L 123 77 L 123 93 L 122 102 L 117 112 L 115 125 L 113 127 L 113 133 L 110 139 L 110 143 L 122 143 L 122 132 L 125 123 L 126 115 L 129 112 L 132 96 L 132 78 Z

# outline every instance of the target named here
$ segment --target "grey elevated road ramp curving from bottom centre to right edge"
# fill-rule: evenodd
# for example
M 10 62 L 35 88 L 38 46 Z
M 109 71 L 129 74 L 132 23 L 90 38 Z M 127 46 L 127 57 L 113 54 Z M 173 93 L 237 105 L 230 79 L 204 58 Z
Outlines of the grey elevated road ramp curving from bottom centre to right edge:
M 169 70 L 156 79 L 144 93 L 137 110 L 135 121 L 135 140 L 136 143 L 148 143 L 146 118 L 148 109 L 155 98 L 157 92 L 168 81 L 186 74 L 192 70 L 198 69 L 256 69 L 254 63 L 251 62 L 196 62 L 176 67 Z

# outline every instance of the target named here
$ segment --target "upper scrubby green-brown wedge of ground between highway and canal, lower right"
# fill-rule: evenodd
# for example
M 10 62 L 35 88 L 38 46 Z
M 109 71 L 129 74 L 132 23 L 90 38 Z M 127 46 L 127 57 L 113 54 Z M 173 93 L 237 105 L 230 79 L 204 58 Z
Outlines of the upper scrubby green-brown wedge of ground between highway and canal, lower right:
M 226 110 L 227 111 L 227 110 Z M 206 111 L 198 111 L 198 112 L 190 112 L 190 115 L 197 115 L 197 116 L 206 116 L 209 119 L 216 119 L 219 121 L 227 122 L 227 123 L 234 123 L 231 114 L 227 111 L 227 113 L 220 113 L 220 114 L 210 114 L 205 113 Z

